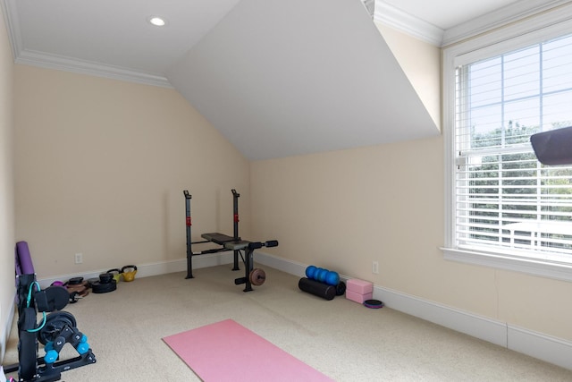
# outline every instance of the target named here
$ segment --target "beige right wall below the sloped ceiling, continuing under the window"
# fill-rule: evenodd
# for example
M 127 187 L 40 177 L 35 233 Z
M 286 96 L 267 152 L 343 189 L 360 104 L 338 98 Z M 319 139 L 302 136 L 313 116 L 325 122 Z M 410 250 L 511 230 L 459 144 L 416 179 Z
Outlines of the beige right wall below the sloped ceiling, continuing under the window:
M 391 39 L 412 83 L 440 60 Z M 253 233 L 283 259 L 572 340 L 571 283 L 443 259 L 443 151 L 438 137 L 253 162 Z

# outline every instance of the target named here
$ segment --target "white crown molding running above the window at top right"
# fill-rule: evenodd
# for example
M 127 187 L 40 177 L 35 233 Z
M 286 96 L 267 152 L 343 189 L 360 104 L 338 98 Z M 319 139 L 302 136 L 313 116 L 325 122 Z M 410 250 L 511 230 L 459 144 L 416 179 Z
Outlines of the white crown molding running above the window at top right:
M 561 5 L 569 4 L 569 0 L 520 0 L 506 5 L 491 13 L 486 13 L 471 21 L 464 22 L 445 30 L 442 47 L 458 43 L 467 38 L 504 27 L 512 22 L 526 19 L 535 14 L 550 11 Z

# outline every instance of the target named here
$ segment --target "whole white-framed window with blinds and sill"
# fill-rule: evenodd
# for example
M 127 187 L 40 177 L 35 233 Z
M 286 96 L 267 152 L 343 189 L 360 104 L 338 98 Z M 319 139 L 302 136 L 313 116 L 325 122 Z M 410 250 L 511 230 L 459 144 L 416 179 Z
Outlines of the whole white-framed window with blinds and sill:
M 572 280 L 572 166 L 530 144 L 572 126 L 572 27 L 502 33 L 445 50 L 445 257 Z

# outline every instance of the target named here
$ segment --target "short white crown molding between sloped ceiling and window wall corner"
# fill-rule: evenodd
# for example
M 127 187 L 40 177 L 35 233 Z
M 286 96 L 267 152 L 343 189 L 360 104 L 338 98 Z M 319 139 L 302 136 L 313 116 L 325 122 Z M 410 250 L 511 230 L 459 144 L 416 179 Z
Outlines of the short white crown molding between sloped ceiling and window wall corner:
M 432 23 L 403 12 L 382 0 L 375 0 L 374 21 L 379 21 L 414 38 L 419 38 L 436 47 L 441 47 L 444 30 Z

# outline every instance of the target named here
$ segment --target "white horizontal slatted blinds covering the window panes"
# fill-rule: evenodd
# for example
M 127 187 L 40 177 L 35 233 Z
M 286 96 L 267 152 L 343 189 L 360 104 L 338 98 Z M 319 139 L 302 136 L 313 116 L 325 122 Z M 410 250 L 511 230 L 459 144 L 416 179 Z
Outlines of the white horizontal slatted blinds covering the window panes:
M 572 35 L 461 64 L 455 92 L 456 247 L 572 262 L 572 166 L 530 144 L 572 126 Z

